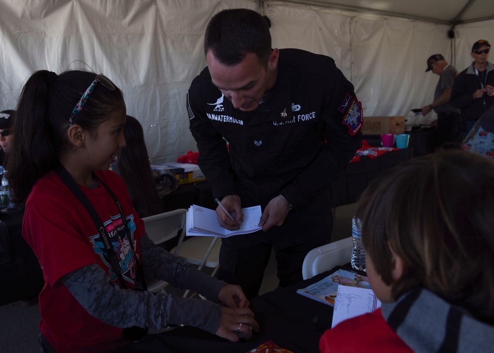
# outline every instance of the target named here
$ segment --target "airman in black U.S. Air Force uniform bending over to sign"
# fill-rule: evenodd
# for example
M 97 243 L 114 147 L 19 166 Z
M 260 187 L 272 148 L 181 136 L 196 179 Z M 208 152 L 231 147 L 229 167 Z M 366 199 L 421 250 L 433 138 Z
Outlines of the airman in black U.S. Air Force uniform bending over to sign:
M 252 298 L 272 248 L 285 287 L 302 280 L 307 252 L 329 243 L 330 185 L 362 145 L 362 106 L 330 57 L 272 49 L 255 11 L 217 13 L 204 47 L 208 66 L 187 92 L 187 111 L 201 171 L 236 215 L 218 206 L 219 222 L 237 229 L 241 208 L 263 210 L 262 231 L 222 239 L 217 277 Z

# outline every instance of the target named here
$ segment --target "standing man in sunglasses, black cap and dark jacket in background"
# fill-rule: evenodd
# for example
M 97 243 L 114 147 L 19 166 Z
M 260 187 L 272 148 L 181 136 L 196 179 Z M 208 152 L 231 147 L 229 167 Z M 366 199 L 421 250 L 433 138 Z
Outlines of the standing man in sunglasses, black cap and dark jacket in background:
M 451 92 L 451 105 L 461 109 L 461 137 L 473 127 L 479 117 L 494 106 L 494 65 L 488 61 L 491 44 L 479 40 L 470 55 L 475 61 L 456 77 Z

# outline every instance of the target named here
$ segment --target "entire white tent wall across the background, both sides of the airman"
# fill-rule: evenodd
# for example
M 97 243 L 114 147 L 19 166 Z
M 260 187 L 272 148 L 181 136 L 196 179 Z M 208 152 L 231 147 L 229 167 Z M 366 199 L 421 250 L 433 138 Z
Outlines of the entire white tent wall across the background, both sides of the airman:
M 283 1 L 0 0 L 0 109 L 15 106 L 36 70 L 85 68 L 124 91 L 127 114 L 143 125 L 152 163 L 175 161 L 196 143 L 185 92 L 204 68 L 204 30 L 225 8 L 260 10 L 272 21 L 273 46 L 331 56 L 355 86 L 366 116 L 406 115 L 432 101 L 438 76 L 425 73 L 434 53 L 462 70 L 471 44 L 493 21 L 459 25 L 455 52 L 449 26 Z M 75 104 L 75 103 L 74 103 Z

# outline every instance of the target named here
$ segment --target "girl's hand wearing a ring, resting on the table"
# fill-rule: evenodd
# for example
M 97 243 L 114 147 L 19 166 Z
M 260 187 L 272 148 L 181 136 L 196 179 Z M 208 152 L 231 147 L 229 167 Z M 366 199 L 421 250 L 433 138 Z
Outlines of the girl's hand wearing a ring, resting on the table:
M 249 340 L 252 331 L 259 332 L 259 324 L 254 320 L 252 310 L 221 308 L 221 321 L 216 336 L 239 342 L 240 338 Z

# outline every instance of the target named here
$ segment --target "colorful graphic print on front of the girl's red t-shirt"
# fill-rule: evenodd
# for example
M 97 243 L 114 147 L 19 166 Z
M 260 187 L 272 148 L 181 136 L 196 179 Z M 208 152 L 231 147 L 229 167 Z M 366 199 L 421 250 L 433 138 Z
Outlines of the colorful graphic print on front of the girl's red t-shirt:
M 130 244 L 130 241 L 133 242 L 132 239 L 134 237 L 135 230 L 133 215 L 127 218 L 127 226 L 132 239 L 128 239 L 127 237 L 124 222 L 122 221 L 120 214 L 117 216 L 112 216 L 110 220 L 103 222 L 103 225 L 105 226 L 108 240 L 112 244 L 113 250 L 117 255 L 117 260 L 120 263 L 120 268 L 118 270 L 121 271 L 124 280 L 132 284 L 135 283 L 135 257 L 133 251 L 135 243 L 133 243 L 134 247 Z M 112 281 L 118 280 L 118 272 L 115 272 L 115 268 L 112 268 L 109 261 L 104 239 L 102 239 L 99 234 L 96 234 L 89 237 L 89 240 L 93 244 L 94 252 L 98 254 L 101 261 L 108 266 L 110 279 Z

